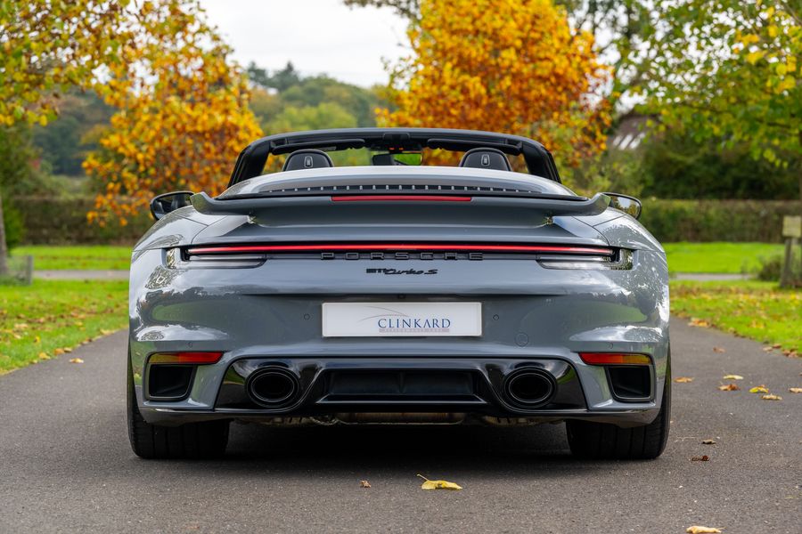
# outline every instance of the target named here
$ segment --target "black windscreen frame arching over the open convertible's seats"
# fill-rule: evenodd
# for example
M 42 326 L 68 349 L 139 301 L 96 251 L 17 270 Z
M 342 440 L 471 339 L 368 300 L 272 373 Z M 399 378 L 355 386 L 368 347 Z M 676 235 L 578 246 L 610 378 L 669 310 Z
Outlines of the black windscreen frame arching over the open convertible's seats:
M 270 154 L 289 154 L 300 149 L 471 150 L 493 148 L 512 156 L 522 155 L 529 174 L 560 181 L 552 154 L 539 142 L 519 135 L 443 128 L 342 128 L 293 134 L 268 135 L 240 152 L 229 186 L 264 174 Z

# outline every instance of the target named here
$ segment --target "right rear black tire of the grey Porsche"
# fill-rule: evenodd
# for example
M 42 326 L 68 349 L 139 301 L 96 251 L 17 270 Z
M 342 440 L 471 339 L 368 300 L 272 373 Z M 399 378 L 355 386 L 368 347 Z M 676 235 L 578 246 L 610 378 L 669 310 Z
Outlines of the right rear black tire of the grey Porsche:
M 671 351 L 666 385 L 658 417 L 649 425 L 620 428 L 609 423 L 566 421 L 569 447 L 574 456 L 587 459 L 651 460 L 666 449 L 671 419 Z

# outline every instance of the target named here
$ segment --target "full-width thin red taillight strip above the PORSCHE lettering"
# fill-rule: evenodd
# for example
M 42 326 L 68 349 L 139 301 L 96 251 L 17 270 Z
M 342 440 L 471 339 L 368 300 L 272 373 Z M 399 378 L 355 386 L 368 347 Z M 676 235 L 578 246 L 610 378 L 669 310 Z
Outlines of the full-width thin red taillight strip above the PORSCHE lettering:
M 309 245 L 241 245 L 231 247 L 193 247 L 187 250 L 189 254 L 230 254 L 255 252 L 325 252 L 341 251 L 399 251 L 422 250 L 439 252 L 524 252 L 524 253 L 551 253 L 551 254 L 578 254 L 578 255 L 613 255 L 611 248 L 597 247 L 570 247 L 565 245 L 475 245 L 475 244 L 432 244 L 432 243 L 322 243 Z

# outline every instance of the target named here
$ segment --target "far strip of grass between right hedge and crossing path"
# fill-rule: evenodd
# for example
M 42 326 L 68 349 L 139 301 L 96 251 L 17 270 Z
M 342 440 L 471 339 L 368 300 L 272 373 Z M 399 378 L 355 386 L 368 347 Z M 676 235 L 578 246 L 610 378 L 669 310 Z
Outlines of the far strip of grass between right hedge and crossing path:
M 671 272 L 752 272 L 760 258 L 782 255 L 779 243 L 664 243 Z

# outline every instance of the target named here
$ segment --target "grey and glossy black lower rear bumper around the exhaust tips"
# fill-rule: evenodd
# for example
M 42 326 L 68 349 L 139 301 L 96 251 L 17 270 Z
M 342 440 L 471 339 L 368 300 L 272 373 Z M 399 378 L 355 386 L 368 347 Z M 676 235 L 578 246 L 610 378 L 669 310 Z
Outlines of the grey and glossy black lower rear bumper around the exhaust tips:
M 358 420 L 355 414 L 403 413 L 449 414 L 454 417 L 439 418 L 454 422 L 536 424 L 573 418 L 626 426 L 645 425 L 657 416 L 656 379 L 648 401 L 610 401 L 609 407 L 589 409 L 581 376 L 593 384 L 596 369 L 581 360 L 579 365 L 581 372 L 570 358 L 521 356 L 239 358 L 199 367 L 193 392 L 182 401 L 151 401 L 143 388 L 141 411 L 147 421 L 160 425 L 211 419 L 348 421 Z M 212 384 L 218 366 L 225 373 L 219 384 Z M 274 405 L 257 401 L 250 393 L 254 379 L 276 370 L 295 380 L 297 390 Z M 542 400 L 516 401 L 508 385 L 512 377 L 522 375 L 543 377 L 552 390 Z M 197 402 L 204 388 L 217 392 L 209 406 Z

